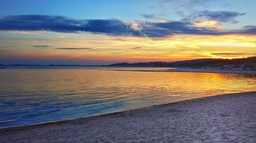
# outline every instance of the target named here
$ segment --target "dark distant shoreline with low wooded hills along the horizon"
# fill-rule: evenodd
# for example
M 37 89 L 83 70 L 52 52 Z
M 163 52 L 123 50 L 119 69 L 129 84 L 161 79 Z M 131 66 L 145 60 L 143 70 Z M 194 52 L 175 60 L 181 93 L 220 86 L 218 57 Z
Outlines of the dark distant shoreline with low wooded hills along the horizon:
M 0 64 L 0 66 L 102 66 L 102 67 L 216 67 L 225 68 L 227 65 L 233 67 L 251 68 L 255 69 L 256 56 L 240 59 L 195 59 L 176 62 L 139 62 L 139 63 L 115 63 L 110 65 L 72 65 L 72 64 L 49 64 L 49 65 L 27 65 L 27 64 Z M 230 67 L 229 67 L 230 68 Z

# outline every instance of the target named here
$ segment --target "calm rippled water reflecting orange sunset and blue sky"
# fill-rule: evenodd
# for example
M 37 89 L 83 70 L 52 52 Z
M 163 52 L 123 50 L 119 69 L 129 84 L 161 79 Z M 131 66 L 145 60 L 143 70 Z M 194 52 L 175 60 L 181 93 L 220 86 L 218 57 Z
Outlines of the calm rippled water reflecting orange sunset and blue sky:
M 50 68 L 0 69 L 0 128 L 256 91 L 255 75 Z

